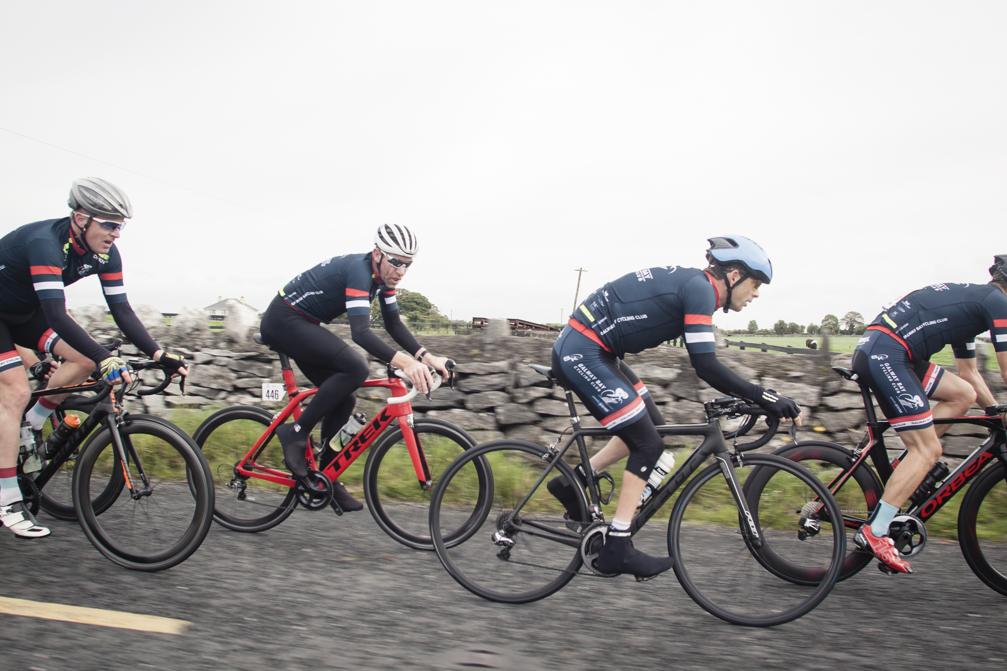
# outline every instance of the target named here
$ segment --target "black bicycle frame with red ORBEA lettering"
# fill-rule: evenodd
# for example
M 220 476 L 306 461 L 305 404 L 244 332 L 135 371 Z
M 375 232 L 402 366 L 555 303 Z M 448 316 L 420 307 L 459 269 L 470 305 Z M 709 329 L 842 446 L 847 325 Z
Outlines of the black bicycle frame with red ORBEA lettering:
M 883 433 L 891 426 L 887 420 L 878 420 L 877 413 L 874 412 L 874 402 L 871 391 L 864 385 L 860 386 L 860 394 L 864 400 L 864 409 L 867 411 L 867 433 L 857 445 L 854 454 L 856 455 L 850 467 L 846 468 L 829 483 L 829 491 L 836 495 L 839 490 L 859 467 L 868 455 L 874 463 L 874 469 L 881 480 L 882 485 L 888 483 L 891 474 L 898 462 L 905 458 L 908 450 L 903 449 L 901 454 L 892 461 L 888 460 L 888 450 L 884 444 Z M 958 492 L 960 492 L 973 478 L 978 476 L 986 465 L 994 458 L 1000 460 L 1007 466 L 1007 433 L 1005 433 L 1004 420 L 999 415 L 983 415 L 968 417 L 934 417 L 934 424 L 973 424 L 990 429 L 990 437 L 983 441 L 973 452 L 959 464 L 954 472 L 944 479 L 944 484 L 937 488 L 930 496 L 923 499 L 916 505 L 906 509 L 906 515 L 912 515 L 926 522 L 929 518 L 941 510 Z M 877 505 L 877 502 L 868 502 L 870 507 Z M 847 528 L 859 529 L 863 520 L 859 518 L 843 516 L 844 524 Z

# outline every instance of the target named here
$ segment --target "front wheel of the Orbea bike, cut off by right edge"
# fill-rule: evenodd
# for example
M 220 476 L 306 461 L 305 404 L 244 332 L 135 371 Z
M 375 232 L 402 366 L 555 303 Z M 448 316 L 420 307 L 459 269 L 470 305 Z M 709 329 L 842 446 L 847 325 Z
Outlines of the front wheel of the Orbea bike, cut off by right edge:
M 972 571 L 1007 594 L 1007 468 L 995 463 L 980 474 L 962 500 L 958 542 Z

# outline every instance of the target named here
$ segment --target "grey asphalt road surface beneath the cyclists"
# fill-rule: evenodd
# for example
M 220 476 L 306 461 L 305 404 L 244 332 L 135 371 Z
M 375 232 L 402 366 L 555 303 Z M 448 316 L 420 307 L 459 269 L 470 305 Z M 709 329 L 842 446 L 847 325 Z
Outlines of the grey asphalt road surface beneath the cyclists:
M 192 558 L 160 573 L 119 568 L 75 523 L 40 520 L 52 537 L 0 534 L 0 596 L 192 624 L 168 635 L 0 615 L 8 671 L 1007 667 L 1007 597 L 947 541 L 930 541 L 912 576 L 868 567 L 805 618 L 745 629 L 702 611 L 672 572 L 642 583 L 578 576 L 536 603 L 490 603 L 367 511 L 299 511 L 261 534 L 214 525 Z M 649 544 L 664 532 L 652 526 Z

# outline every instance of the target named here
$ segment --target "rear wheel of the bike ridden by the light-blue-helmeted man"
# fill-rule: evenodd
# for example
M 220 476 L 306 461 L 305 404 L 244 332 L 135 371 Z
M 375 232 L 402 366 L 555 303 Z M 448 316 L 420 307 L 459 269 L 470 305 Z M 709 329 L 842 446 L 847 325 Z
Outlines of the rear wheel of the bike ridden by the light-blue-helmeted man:
M 564 508 L 545 482 L 533 490 L 549 458 L 549 451 L 535 443 L 493 440 L 467 450 L 441 476 L 430 501 L 430 536 L 444 568 L 465 589 L 491 601 L 526 603 L 548 596 L 576 575 L 580 530 L 567 528 Z M 489 465 L 483 482 L 476 467 L 480 459 Z M 566 462 L 556 466 L 567 480 L 578 482 Z M 577 491 L 579 514 L 586 520 L 587 499 L 583 490 Z M 480 509 L 482 500 L 491 506 Z M 466 523 L 474 532 L 464 542 L 445 542 L 446 535 Z

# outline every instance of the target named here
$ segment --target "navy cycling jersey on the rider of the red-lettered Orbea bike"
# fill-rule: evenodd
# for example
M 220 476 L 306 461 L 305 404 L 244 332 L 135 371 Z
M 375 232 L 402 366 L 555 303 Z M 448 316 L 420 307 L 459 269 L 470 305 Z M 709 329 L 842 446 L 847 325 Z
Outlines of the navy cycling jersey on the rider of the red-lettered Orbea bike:
M 994 350 L 1007 352 L 1007 295 L 993 284 L 931 284 L 886 306 L 868 328 L 893 337 L 912 361 L 947 345 L 956 359 L 973 359 L 976 336 L 987 330 Z

